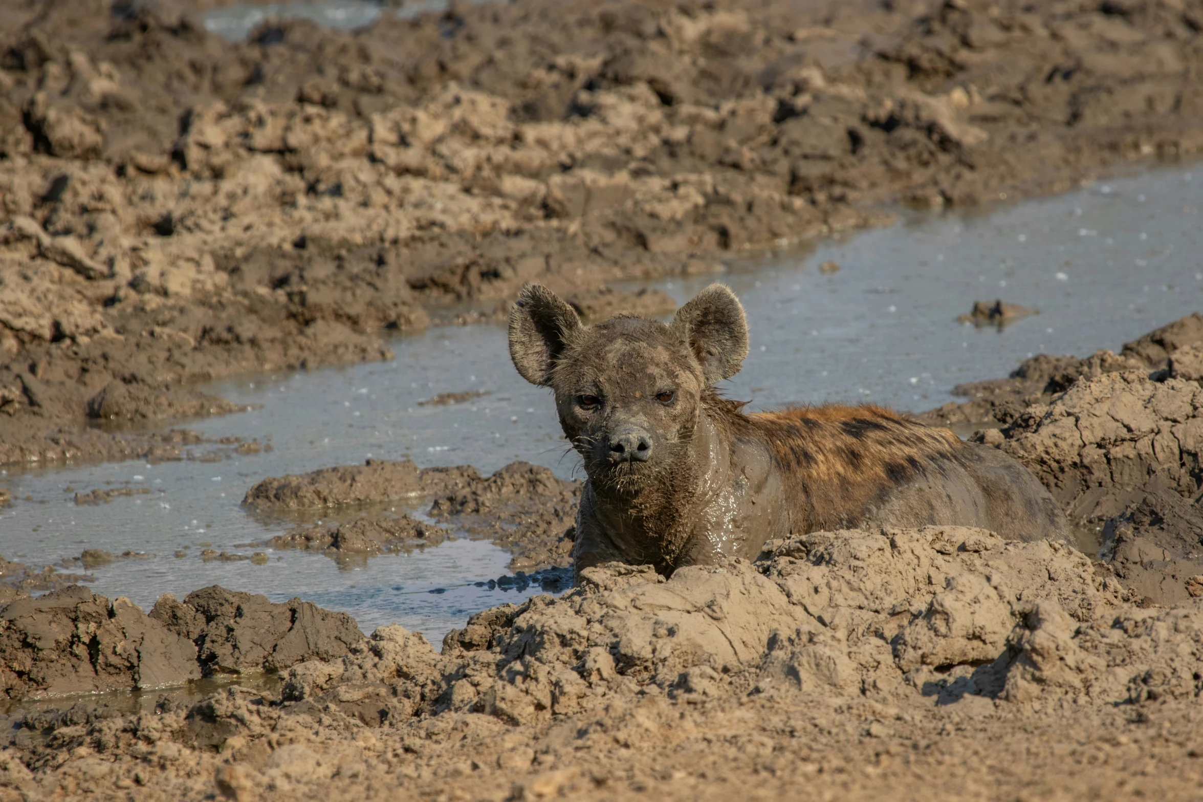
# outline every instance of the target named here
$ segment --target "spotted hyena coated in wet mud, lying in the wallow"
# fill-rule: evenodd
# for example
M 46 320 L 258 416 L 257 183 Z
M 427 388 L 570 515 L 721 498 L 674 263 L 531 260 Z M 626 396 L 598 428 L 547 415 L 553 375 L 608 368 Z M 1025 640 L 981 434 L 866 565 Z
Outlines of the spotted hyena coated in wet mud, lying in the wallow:
M 510 356 L 551 387 L 588 481 L 576 569 L 609 560 L 682 565 L 755 558 L 806 531 L 961 524 L 1011 540 L 1067 540 L 1065 515 L 1026 468 L 879 406 L 746 415 L 713 385 L 747 356 L 747 321 L 721 284 L 671 323 L 620 315 L 594 326 L 544 286 L 510 313 Z

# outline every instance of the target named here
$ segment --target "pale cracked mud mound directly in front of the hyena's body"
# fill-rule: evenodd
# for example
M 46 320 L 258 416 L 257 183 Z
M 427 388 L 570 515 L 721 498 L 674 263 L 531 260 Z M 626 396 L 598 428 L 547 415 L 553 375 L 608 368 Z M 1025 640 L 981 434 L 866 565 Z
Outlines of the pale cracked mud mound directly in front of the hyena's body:
M 1056 543 L 960 527 L 814 533 L 770 543 L 755 565 L 683 568 L 666 581 L 650 566 L 608 565 L 577 586 L 473 616 L 442 655 L 385 628 L 342 660 L 290 670 L 285 697 L 384 682 L 423 714 L 538 724 L 651 687 L 670 697 L 776 687 L 938 695 L 954 683 L 949 693 L 1000 699 L 1045 687 L 1100 701 L 1128 694 L 1127 675 L 1094 676 L 1094 658 L 1079 654 L 1106 648 L 1094 628 L 1109 629 L 1128 594 Z M 1033 638 L 1054 642 L 1035 654 Z M 389 652 L 404 655 L 399 685 Z

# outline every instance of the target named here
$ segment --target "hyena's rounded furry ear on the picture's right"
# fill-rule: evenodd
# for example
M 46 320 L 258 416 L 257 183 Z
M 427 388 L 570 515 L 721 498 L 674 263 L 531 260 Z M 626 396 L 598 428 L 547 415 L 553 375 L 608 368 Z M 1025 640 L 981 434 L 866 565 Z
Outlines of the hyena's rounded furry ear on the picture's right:
M 689 343 L 701 363 L 706 384 L 734 376 L 748 355 L 748 322 L 743 307 L 722 284 L 711 284 L 677 309 L 672 328 Z

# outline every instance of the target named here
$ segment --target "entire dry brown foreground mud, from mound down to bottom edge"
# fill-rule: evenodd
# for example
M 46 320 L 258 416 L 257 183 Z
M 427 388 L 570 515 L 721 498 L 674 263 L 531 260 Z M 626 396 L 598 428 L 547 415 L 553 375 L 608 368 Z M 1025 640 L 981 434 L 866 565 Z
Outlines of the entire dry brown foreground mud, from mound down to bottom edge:
M 1187 798 L 1203 602 L 1131 595 L 1073 549 L 964 528 L 814 533 L 668 581 L 602 566 L 442 654 L 386 626 L 277 691 L 17 712 L 4 777 L 150 800 Z

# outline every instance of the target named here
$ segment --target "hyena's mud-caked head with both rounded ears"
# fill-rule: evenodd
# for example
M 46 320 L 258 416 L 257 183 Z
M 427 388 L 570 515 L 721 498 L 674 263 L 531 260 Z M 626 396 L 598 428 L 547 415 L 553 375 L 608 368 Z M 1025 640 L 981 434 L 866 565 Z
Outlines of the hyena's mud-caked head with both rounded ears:
M 743 307 L 721 284 L 671 323 L 620 315 L 582 326 L 539 284 L 510 311 L 514 367 L 555 391 L 559 424 L 598 489 L 638 493 L 683 468 L 703 391 L 735 375 L 747 351 Z

